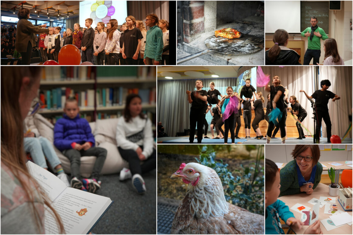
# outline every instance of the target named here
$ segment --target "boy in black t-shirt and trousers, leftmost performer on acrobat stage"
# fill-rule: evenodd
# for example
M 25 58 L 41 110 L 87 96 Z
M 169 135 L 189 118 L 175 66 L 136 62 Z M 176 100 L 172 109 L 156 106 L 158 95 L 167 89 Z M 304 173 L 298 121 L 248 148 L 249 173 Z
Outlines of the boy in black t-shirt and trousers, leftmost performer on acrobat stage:
M 187 101 L 191 104 L 190 108 L 190 144 L 193 143 L 195 138 L 195 129 L 197 123 L 197 143 L 200 144 L 202 141 L 202 128 L 204 124 L 204 119 L 206 116 L 207 109 L 207 91 L 202 90 L 203 82 L 197 80 L 195 82 L 196 91 L 186 91 Z

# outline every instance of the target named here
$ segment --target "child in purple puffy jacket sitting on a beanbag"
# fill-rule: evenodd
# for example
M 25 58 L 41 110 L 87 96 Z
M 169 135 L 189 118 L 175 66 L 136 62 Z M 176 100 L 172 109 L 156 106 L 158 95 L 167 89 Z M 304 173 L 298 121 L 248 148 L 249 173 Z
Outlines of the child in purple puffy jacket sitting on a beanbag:
M 86 119 L 80 118 L 79 107 L 75 99 L 65 102 L 64 118 L 59 119 L 54 127 L 54 145 L 70 159 L 71 187 L 95 193 L 101 188 L 99 176 L 107 157 L 107 150 L 94 147 L 95 139 Z M 93 171 L 89 179 L 80 175 L 80 158 L 96 156 Z

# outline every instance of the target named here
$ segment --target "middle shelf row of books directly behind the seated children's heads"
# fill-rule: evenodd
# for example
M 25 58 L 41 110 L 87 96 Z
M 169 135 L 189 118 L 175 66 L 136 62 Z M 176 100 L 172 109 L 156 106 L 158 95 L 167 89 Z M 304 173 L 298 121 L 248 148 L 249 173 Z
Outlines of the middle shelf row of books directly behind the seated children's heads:
M 64 108 L 68 98 L 75 98 L 80 108 L 94 108 L 94 97 L 96 92 L 96 107 L 123 106 L 128 94 L 138 94 L 143 104 L 156 104 L 156 88 L 150 89 L 127 89 L 119 88 L 98 88 L 75 91 L 71 88 L 61 87 L 52 90 L 41 90 L 40 100 L 43 103 L 42 109 L 56 110 Z

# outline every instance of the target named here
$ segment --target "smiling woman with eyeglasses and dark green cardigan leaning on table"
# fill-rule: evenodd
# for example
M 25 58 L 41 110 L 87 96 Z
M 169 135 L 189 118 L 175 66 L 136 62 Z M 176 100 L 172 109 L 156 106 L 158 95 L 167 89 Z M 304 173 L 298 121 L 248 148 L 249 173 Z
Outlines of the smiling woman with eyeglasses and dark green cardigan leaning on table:
M 321 180 L 322 165 L 319 163 L 320 149 L 318 145 L 295 145 L 290 161 L 280 171 L 280 196 L 306 193 L 312 194 Z

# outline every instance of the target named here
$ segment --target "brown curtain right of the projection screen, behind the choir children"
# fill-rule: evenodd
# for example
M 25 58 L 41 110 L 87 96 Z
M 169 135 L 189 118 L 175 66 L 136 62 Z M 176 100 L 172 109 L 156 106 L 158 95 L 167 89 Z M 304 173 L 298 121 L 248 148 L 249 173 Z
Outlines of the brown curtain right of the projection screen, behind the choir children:
M 148 14 L 156 14 L 158 19 L 165 19 L 169 22 L 169 1 L 127 1 L 128 14 L 136 19 L 142 20 L 145 24 L 145 19 Z M 123 22 L 119 22 L 119 25 Z M 146 27 L 148 30 L 148 27 Z

